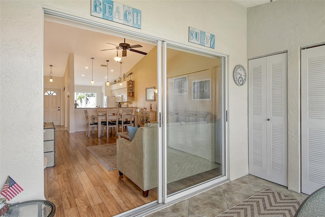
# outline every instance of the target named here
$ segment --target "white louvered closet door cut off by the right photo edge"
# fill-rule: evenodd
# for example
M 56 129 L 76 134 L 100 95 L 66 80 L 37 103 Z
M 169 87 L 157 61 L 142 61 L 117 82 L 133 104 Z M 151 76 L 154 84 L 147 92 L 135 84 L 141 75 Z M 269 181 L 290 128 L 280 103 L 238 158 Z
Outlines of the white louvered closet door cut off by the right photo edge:
M 325 185 L 325 45 L 301 51 L 302 192 Z

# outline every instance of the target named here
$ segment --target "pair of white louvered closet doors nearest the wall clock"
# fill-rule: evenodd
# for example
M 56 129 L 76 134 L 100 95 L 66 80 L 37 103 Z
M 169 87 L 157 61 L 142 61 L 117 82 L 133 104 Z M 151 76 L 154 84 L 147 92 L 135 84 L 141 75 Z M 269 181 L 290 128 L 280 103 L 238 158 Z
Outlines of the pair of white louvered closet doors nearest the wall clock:
M 248 61 L 249 173 L 287 186 L 287 53 Z

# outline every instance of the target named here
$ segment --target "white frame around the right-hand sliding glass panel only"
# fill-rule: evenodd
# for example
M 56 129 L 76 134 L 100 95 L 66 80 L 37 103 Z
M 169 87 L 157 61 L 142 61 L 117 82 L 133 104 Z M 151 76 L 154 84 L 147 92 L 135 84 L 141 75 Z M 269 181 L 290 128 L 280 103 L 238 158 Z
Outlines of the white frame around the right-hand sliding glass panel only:
M 218 56 L 221 58 L 221 92 L 222 92 L 222 101 L 221 101 L 221 119 L 223 120 L 222 123 L 222 130 L 221 133 L 223 135 L 222 138 L 222 163 L 224 164 L 224 167 L 222 167 L 222 174 L 223 176 L 219 178 L 215 178 L 213 180 L 201 183 L 195 187 L 192 187 L 190 189 L 178 192 L 176 194 L 173 194 L 171 196 L 168 196 L 167 194 L 167 46 L 171 45 L 174 47 L 179 47 L 182 49 L 188 49 L 190 51 L 199 52 L 199 53 L 206 53 L 213 56 Z M 228 55 L 211 52 L 208 50 L 191 47 L 187 45 L 183 45 L 176 42 L 171 41 L 164 41 L 163 42 L 163 147 L 162 149 L 159 149 L 159 156 L 163 156 L 163 167 L 158 168 L 159 170 L 159 176 L 161 175 L 163 180 L 163 202 L 164 203 L 170 203 L 175 201 L 183 200 L 186 197 L 198 194 L 199 192 L 202 192 L 206 189 L 209 189 L 213 186 L 216 186 L 226 180 L 228 180 L 228 117 L 226 117 L 226 114 L 228 113 Z M 161 171 L 162 170 L 162 171 Z

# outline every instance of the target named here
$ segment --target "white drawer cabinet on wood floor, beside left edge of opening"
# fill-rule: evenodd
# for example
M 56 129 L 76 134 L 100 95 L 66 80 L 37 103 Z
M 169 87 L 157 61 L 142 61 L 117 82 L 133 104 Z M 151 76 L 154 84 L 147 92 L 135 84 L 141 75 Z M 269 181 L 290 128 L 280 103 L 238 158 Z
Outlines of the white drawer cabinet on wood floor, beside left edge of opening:
M 53 122 L 44 123 L 44 157 L 46 167 L 55 166 L 55 127 Z

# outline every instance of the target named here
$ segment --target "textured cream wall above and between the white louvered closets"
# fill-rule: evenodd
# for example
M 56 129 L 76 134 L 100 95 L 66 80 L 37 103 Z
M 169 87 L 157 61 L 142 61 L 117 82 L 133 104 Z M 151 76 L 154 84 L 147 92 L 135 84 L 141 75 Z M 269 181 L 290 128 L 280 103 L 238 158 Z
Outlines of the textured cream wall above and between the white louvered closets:
M 247 57 L 288 51 L 288 188 L 300 192 L 300 48 L 325 42 L 325 1 L 274 1 L 247 10 Z

